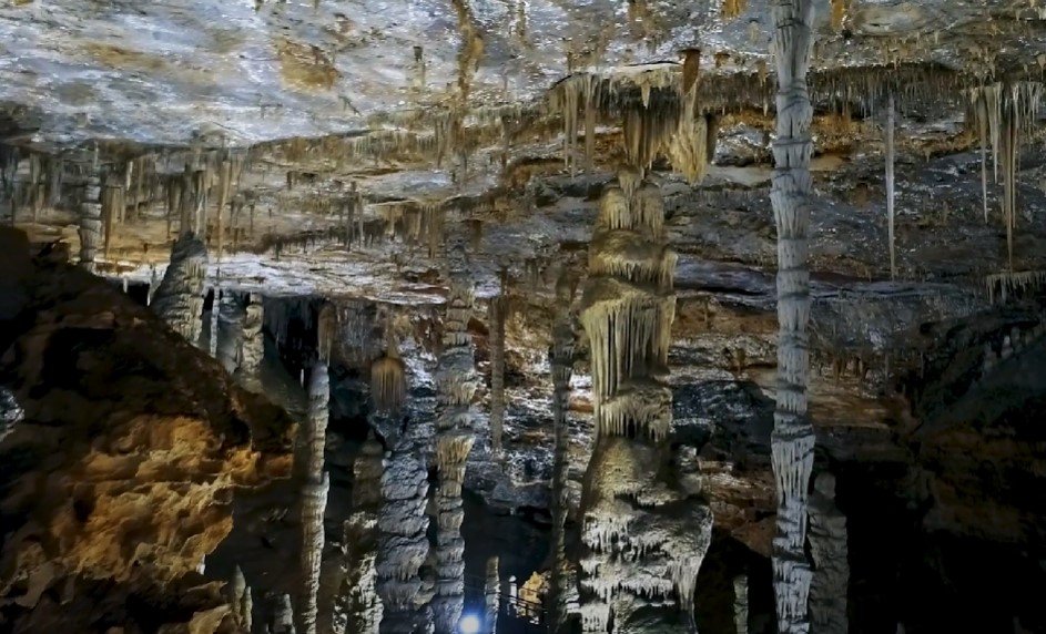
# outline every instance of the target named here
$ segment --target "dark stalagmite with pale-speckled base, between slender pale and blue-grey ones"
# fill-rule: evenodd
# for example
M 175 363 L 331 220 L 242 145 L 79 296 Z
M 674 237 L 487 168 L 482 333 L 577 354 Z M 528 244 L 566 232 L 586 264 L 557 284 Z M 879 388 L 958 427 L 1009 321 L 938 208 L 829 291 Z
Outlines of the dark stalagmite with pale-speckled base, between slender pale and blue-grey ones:
M 378 513 L 382 507 L 382 446 L 367 436 L 353 467 L 353 513 L 345 522 L 342 548 L 344 574 L 335 599 L 335 634 L 377 634 L 382 623 L 378 599 Z

